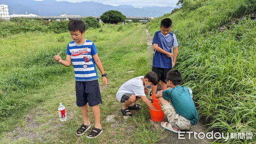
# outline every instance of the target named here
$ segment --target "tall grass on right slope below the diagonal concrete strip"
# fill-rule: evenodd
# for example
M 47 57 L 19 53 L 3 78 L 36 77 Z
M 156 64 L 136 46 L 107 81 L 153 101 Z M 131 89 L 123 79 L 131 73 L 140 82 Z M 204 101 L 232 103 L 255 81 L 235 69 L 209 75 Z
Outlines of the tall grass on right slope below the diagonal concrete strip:
M 177 69 L 193 87 L 209 130 L 255 132 L 255 28 L 256 21 L 241 21 L 224 33 L 198 37 L 179 53 Z M 237 33 L 243 36 L 237 39 Z

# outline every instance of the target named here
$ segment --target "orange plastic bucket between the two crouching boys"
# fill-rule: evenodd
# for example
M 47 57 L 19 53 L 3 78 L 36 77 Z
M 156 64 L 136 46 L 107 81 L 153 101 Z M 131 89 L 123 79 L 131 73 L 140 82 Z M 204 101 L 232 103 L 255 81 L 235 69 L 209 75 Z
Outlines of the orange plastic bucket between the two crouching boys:
M 152 104 L 153 104 L 153 106 L 157 110 L 151 109 L 149 107 L 149 112 L 150 112 L 150 115 L 151 115 L 151 120 L 152 121 L 156 121 L 156 122 L 163 121 L 164 113 L 163 113 L 159 103 L 152 103 Z

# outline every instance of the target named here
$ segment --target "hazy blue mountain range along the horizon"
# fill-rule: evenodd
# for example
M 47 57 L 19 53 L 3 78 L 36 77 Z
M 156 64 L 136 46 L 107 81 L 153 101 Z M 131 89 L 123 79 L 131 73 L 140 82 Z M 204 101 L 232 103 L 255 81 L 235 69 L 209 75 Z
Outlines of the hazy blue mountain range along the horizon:
M 58 16 L 60 14 L 78 14 L 81 16 L 100 16 L 109 10 L 117 10 L 122 12 L 125 16 L 133 17 L 160 17 L 165 13 L 170 13 L 176 7 L 144 7 L 134 8 L 131 5 L 111 6 L 102 3 L 81 2 L 70 3 L 67 1 L 57 2 L 55 0 L 0 0 L 0 4 L 9 6 L 9 13 L 25 14 L 26 12 L 37 14 L 41 16 Z M 39 13 L 41 12 L 41 14 Z

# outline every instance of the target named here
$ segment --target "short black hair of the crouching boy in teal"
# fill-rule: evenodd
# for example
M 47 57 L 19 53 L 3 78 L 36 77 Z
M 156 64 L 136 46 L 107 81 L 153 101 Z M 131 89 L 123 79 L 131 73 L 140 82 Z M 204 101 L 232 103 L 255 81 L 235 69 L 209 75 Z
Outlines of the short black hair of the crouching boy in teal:
M 166 75 L 166 80 L 172 81 L 172 84 L 174 84 L 175 86 L 181 84 L 182 78 L 180 71 L 177 69 L 169 70 Z

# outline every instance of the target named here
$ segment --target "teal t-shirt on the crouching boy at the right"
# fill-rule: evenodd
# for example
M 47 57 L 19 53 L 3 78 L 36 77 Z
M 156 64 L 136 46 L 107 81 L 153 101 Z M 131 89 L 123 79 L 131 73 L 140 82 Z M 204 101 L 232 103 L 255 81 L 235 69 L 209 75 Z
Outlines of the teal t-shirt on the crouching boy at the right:
M 175 86 L 163 91 L 163 98 L 172 102 L 177 114 L 188 119 L 192 125 L 198 122 L 198 112 L 186 86 Z

